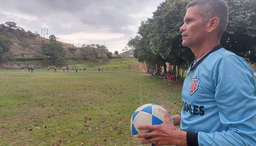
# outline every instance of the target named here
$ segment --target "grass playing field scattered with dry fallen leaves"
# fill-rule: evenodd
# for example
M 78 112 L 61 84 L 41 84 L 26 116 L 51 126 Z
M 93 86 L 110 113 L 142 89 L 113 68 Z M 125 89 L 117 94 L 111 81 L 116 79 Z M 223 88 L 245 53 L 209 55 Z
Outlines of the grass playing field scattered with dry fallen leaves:
M 69 74 L 0 70 L 0 146 L 137 146 L 134 110 L 156 103 L 177 114 L 182 99 L 166 82 L 133 71 L 133 63 Z

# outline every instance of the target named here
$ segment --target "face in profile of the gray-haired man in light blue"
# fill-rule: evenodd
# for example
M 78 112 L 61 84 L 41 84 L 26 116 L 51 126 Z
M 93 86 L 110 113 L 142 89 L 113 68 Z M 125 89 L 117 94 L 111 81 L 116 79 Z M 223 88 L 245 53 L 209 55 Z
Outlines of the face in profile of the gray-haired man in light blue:
M 190 49 L 199 47 L 206 37 L 206 22 L 198 12 L 198 6 L 194 5 L 187 9 L 184 24 L 181 26 L 182 45 Z

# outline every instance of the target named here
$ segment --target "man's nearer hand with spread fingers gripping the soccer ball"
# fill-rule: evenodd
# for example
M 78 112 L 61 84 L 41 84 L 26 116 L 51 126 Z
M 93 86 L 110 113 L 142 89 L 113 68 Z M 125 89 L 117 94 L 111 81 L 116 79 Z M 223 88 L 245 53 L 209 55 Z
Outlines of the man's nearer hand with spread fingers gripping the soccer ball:
M 164 113 L 164 122 L 160 125 L 140 125 L 138 129 L 147 129 L 152 132 L 145 132 L 137 134 L 138 138 L 152 137 L 148 140 L 142 140 L 142 144 L 155 142 L 155 146 L 161 145 L 179 145 L 186 146 L 186 133 L 175 128 L 169 118 L 169 111 Z

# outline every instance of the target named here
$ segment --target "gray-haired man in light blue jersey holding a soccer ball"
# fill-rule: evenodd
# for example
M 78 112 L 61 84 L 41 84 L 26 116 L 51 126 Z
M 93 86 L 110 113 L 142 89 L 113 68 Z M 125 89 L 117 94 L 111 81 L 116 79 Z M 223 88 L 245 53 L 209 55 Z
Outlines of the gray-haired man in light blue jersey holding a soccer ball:
M 182 45 L 196 60 L 184 80 L 181 115 L 173 115 L 172 124 L 166 112 L 161 125 L 139 126 L 152 132 L 137 137 L 152 137 L 142 144 L 156 142 L 155 146 L 255 146 L 253 71 L 243 58 L 219 44 L 228 22 L 227 5 L 223 0 L 193 0 L 186 8 Z

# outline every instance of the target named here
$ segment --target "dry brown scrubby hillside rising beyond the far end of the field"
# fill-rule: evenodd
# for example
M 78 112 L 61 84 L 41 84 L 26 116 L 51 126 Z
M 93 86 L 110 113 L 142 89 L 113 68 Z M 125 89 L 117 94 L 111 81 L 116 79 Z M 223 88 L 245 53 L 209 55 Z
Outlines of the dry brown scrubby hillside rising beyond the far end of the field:
M 25 32 L 21 27 L 7 27 L 0 25 L 0 39 L 10 40 L 12 42 L 10 47 L 10 52 L 13 53 L 15 57 L 36 57 L 45 58 L 48 56 L 42 55 L 42 45 L 43 43 L 50 43 L 50 40 L 41 37 L 37 32 L 32 33 L 31 31 Z M 65 58 L 94 58 L 107 56 L 109 53 L 105 45 L 91 44 L 82 45 L 82 48 L 74 47 L 73 44 L 64 43 L 58 41 L 62 44 L 65 50 Z M 73 51 L 70 51 L 72 48 Z M 112 56 L 115 56 L 112 53 Z

